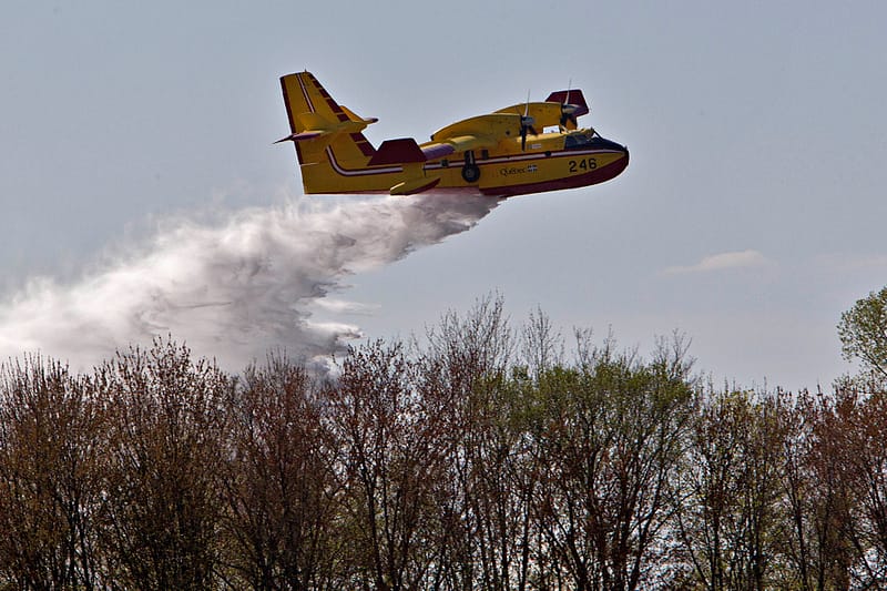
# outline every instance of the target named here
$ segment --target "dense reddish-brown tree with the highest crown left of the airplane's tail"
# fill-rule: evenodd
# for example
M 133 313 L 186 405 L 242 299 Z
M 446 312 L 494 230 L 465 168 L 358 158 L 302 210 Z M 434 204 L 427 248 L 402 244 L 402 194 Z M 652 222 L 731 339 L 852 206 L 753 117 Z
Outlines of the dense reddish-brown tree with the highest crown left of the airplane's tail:
M 95 379 L 112 412 L 103 510 L 115 587 L 212 587 L 230 379 L 160 339 L 118 355 Z

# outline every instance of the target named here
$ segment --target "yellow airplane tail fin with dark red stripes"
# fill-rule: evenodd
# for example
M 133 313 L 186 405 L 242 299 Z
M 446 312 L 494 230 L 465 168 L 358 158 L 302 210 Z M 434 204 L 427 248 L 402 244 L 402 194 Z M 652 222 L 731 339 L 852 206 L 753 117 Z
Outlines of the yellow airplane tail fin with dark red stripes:
M 340 106 L 309 72 L 288 74 L 281 79 L 284 103 L 293 132 L 279 141 L 292 140 L 302 165 L 302 181 L 313 193 L 312 179 L 330 165 L 335 153 L 339 163 L 365 166 L 376 149 L 360 133 L 376 119 L 363 119 Z M 320 166 L 317 166 L 317 165 Z

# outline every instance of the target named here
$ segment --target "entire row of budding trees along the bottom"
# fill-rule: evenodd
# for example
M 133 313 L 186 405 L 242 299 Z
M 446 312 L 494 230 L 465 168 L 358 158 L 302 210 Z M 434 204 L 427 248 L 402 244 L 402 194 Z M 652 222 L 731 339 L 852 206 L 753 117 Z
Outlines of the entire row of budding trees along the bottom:
M 0 589 L 877 589 L 887 398 L 717 389 L 501 300 L 335 376 L 0 376 Z M 571 349 L 568 355 L 567 349 Z

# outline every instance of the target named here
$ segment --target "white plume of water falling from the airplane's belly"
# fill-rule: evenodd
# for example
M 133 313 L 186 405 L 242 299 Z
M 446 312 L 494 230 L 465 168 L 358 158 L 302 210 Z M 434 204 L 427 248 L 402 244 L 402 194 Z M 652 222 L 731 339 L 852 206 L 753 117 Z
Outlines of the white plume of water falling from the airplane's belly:
M 345 277 L 465 232 L 496 204 L 442 194 L 299 198 L 212 224 L 171 221 L 78 281 L 34 278 L 0 302 L 0 359 L 40 351 L 85 369 L 167 334 L 231 370 L 278 348 L 323 359 L 360 336 L 312 317 L 349 307 L 327 297 Z

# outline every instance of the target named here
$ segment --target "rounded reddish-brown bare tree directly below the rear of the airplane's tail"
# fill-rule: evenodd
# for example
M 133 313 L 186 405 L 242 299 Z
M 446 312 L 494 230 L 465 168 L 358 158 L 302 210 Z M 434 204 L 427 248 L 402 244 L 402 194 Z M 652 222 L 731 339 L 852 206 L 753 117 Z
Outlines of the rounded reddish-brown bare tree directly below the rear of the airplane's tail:
M 337 442 L 305 369 L 247 368 L 230 408 L 228 561 L 253 589 L 336 589 L 343 547 Z

